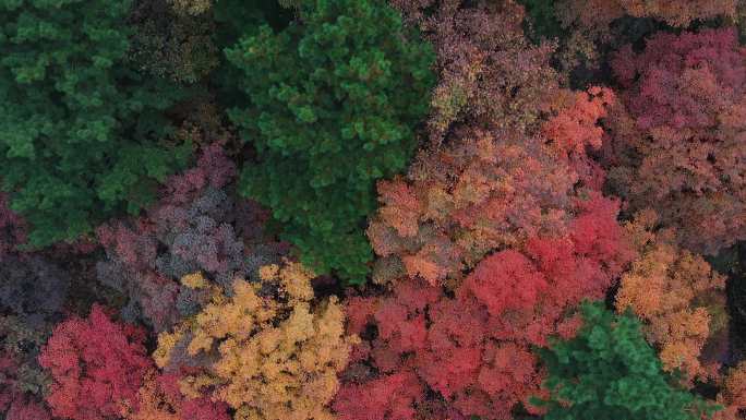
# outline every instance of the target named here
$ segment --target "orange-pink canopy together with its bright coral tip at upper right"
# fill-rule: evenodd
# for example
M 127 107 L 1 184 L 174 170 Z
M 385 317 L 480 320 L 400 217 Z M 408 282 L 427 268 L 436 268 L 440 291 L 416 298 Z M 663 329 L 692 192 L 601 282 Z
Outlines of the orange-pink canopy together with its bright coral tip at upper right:
M 459 280 L 493 250 L 566 232 L 574 200 L 603 183 L 586 149 L 601 146 L 597 122 L 613 99 L 601 88 L 558 91 L 537 135 L 464 129 L 449 147 L 421 154 L 407 178 L 380 182 L 368 229 L 381 256 L 374 279 Z

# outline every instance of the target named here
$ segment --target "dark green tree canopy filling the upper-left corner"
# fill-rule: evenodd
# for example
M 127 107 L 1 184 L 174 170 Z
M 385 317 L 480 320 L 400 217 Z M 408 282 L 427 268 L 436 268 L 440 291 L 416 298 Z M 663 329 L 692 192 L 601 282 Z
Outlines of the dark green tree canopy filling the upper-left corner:
M 184 163 L 157 143 L 182 93 L 128 68 L 130 5 L 0 2 L 0 179 L 34 247 L 136 212 Z

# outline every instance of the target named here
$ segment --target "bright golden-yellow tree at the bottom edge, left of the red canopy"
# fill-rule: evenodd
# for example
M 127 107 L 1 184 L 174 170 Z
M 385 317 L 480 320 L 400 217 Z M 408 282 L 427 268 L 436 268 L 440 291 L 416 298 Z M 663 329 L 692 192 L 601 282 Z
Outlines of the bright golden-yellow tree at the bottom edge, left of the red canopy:
M 237 410 L 237 420 L 326 420 L 357 337 L 345 335 L 336 297 L 312 305 L 313 273 L 298 263 L 269 265 L 261 283 L 237 279 L 232 293 L 212 302 L 175 332 L 161 334 L 154 358 L 173 363 L 175 348 L 214 360 L 181 381 L 186 396 L 212 392 Z M 200 286 L 197 277 L 184 284 Z

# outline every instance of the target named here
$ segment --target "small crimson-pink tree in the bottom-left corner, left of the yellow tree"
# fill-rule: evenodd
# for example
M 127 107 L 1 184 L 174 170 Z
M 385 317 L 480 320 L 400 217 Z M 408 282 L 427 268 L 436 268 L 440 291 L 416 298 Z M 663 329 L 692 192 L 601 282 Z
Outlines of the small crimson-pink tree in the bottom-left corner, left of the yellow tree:
M 39 355 L 53 379 L 47 404 L 56 417 L 103 420 L 136 401 L 153 362 L 144 332 L 112 322 L 94 305 L 87 319 L 72 316 L 55 327 Z

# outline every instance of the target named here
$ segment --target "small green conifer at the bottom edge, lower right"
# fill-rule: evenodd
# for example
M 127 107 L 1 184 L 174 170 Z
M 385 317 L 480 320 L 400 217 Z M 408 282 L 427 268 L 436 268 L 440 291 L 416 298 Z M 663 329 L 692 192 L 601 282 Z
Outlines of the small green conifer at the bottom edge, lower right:
M 546 420 L 698 420 L 717 407 L 707 405 L 664 373 L 646 343 L 640 323 L 602 303 L 585 303 L 577 336 L 540 350 L 549 370 L 551 398 L 537 401 Z

